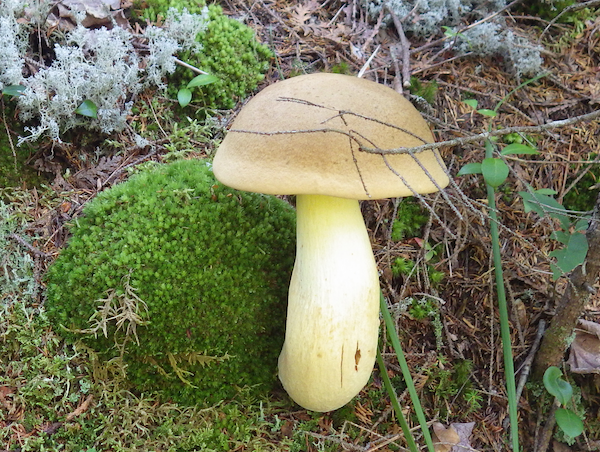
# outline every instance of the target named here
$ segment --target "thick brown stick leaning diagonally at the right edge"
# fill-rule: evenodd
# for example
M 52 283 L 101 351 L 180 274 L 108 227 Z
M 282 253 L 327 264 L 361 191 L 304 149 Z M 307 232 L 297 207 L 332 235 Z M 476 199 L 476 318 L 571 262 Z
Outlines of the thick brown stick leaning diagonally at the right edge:
M 594 292 L 593 285 L 600 273 L 600 195 L 585 234 L 588 252 L 583 264 L 579 265 L 569 278 L 567 288 L 550 327 L 544 334 L 542 345 L 534 363 L 533 376 L 541 380 L 550 366 L 558 366 L 569 347 L 569 339 L 577 326 L 584 306 Z

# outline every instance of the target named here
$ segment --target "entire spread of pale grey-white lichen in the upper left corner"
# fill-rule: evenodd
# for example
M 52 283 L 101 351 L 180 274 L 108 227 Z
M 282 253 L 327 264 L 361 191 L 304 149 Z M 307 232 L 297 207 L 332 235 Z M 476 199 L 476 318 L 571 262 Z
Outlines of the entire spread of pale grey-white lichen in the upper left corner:
M 36 6 L 46 7 L 47 3 L 40 0 Z M 20 144 L 42 136 L 60 141 L 65 131 L 78 126 L 106 134 L 122 130 L 135 95 L 149 86 L 166 88 L 164 78 L 175 70 L 175 54 L 199 51 L 196 38 L 208 23 L 206 9 L 202 14 L 171 9 L 164 27 L 149 26 L 141 36 L 148 43 L 142 53 L 133 46 L 140 36 L 130 30 L 118 26 L 92 30 L 78 25 L 54 45 L 48 66 L 39 64 L 25 73 L 27 25 L 18 19 L 27 14 L 33 20 L 33 10 L 25 10 L 25 6 L 17 0 L 0 0 L 0 90 L 22 85 L 18 109 L 21 119 L 33 123 L 26 127 Z M 76 114 L 84 101 L 97 107 L 97 117 Z

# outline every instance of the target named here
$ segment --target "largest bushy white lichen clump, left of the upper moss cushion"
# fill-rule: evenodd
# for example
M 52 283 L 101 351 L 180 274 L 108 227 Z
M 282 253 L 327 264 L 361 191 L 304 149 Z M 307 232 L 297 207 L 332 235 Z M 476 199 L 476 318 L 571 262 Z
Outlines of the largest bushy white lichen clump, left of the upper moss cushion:
M 92 130 L 110 133 L 125 126 L 129 97 L 140 89 L 139 60 L 130 34 L 122 28 L 88 30 L 76 27 L 67 34 L 65 45 L 54 48 L 55 60 L 47 68 L 24 80 L 25 91 L 18 99 L 23 119 L 39 118 L 27 127 L 20 141 L 35 141 L 42 134 L 60 141 L 60 134 L 85 124 Z M 97 118 L 75 114 L 89 100 L 98 108 Z

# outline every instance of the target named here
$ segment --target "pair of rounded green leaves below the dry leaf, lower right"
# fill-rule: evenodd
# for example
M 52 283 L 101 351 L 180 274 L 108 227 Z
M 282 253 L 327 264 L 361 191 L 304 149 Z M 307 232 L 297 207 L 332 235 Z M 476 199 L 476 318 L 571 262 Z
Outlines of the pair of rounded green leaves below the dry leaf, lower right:
M 565 434 L 565 439 L 572 444 L 574 439 L 583 433 L 583 421 L 573 410 L 567 408 L 568 405 L 575 408 L 573 387 L 562 377 L 562 371 L 556 366 L 551 366 L 544 372 L 543 382 L 546 390 L 561 406 L 555 412 L 556 423 Z

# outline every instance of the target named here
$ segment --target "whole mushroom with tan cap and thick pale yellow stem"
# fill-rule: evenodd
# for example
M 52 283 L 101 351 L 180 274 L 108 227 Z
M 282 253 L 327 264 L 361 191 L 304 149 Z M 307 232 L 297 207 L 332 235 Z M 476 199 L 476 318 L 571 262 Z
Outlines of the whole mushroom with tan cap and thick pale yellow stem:
M 437 151 L 370 149 L 433 141 L 403 96 L 364 79 L 309 74 L 262 90 L 217 150 L 233 188 L 296 195 L 297 251 L 279 379 L 313 411 L 348 403 L 367 384 L 379 336 L 379 276 L 359 200 L 435 192 L 448 184 Z

